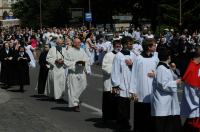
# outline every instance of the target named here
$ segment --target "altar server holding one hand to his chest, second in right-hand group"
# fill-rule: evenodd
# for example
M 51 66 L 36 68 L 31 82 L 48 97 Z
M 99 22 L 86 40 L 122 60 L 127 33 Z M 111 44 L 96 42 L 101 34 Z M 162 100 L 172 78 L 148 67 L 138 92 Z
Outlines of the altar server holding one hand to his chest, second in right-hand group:
M 111 80 L 113 91 L 118 94 L 117 127 L 119 130 L 130 129 L 130 97 L 135 93 L 130 86 L 131 72 L 136 55 L 131 52 L 133 39 L 129 36 L 122 38 L 122 50 L 113 60 Z

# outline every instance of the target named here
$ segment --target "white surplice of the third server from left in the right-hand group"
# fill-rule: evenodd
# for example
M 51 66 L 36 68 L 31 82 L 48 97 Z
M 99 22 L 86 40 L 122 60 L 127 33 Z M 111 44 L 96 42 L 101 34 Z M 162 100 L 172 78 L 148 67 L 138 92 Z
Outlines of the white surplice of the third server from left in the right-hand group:
M 133 72 L 131 75 L 131 86 L 136 88 L 136 94 L 139 102 L 150 103 L 152 96 L 153 78 L 148 77 L 148 73 L 156 71 L 159 62 L 157 55 L 145 58 L 138 55 L 133 63 Z

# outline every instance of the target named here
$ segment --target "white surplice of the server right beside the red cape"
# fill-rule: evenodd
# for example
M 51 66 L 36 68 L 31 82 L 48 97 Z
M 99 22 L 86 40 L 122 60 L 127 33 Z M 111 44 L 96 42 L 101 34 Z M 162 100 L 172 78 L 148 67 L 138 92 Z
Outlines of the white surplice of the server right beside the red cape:
M 163 65 L 158 66 L 153 81 L 152 116 L 180 115 L 177 83 L 173 71 Z

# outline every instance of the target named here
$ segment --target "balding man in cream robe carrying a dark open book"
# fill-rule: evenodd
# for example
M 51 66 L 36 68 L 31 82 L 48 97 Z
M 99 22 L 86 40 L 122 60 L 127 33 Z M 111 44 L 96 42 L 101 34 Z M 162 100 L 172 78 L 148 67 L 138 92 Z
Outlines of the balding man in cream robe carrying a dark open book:
M 68 48 L 65 54 L 69 107 L 75 112 L 80 112 L 79 97 L 87 86 L 86 73 L 89 74 L 90 66 L 89 58 L 80 45 L 80 39 L 75 38 L 73 47 Z

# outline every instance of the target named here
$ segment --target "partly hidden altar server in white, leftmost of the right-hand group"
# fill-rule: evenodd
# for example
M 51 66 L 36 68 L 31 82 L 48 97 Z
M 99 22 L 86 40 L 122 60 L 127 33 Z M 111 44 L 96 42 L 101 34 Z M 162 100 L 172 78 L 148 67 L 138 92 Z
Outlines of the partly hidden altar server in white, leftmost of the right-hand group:
M 117 98 L 115 93 L 112 93 L 111 72 L 113 59 L 115 55 L 121 51 L 120 40 L 113 41 L 113 51 L 105 54 L 102 63 L 103 70 L 103 102 L 102 102 L 102 119 L 104 122 L 116 119 Z

